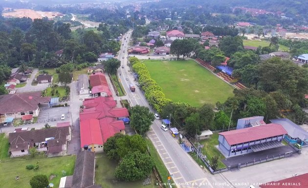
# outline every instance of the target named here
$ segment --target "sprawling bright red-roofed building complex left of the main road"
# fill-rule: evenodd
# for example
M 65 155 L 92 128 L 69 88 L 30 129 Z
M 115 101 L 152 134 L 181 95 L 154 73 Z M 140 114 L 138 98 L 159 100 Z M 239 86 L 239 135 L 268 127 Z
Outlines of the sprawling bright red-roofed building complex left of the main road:
M 116 108 L 113 97 L 95 97 L 83 101 L 79 114 L 82 150 L 102 152 L 108 138 L 116 133 L 125 134 L 124 121 L 129 116 L 126 108 Z

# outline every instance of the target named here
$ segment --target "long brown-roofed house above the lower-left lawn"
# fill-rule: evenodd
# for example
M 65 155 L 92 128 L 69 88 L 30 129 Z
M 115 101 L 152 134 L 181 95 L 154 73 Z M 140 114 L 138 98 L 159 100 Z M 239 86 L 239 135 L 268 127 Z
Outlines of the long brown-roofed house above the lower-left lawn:
M 70 141 L 68 127 L 50 127 L 9 134 L 9 153 L 11 157 L 28 155 L 29 149 L 36 147 L 37 151 L 47 154 L 66 154 L 66 143 Z

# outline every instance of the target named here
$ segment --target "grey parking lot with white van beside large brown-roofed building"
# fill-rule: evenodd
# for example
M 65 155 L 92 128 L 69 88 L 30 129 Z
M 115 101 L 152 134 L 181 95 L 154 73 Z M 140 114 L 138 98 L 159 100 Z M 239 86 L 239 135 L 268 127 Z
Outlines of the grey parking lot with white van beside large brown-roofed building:
M 66 115 L 66 120 L 70 120 L 68 107 L 43 108 L 40 110 L 38 123 L 61 120 L 62 114 Z

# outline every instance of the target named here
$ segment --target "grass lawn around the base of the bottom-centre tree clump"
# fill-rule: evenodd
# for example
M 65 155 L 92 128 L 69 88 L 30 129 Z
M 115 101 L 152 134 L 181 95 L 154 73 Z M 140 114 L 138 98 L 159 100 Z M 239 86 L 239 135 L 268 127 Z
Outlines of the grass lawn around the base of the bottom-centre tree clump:
M 102 185 L 102 188 L 156 188 L 154 186 L 154 174 L 152 173 L 152 184 L 142 186 L 143 180 L 135 182 L 117 181 L 113 174 L 117 162 L 111 161 L 107 158 L 105 153 L 96 154 L 95 169 L 95 184 Z

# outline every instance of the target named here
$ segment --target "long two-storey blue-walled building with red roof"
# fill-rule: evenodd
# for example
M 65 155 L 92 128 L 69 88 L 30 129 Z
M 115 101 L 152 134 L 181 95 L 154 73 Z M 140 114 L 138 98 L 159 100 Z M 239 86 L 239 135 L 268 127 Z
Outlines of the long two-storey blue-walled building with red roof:
M 287 134 L 283 126 L 275 123 L 218 133 L 219 150 L 226 157 L 284 146 Z

